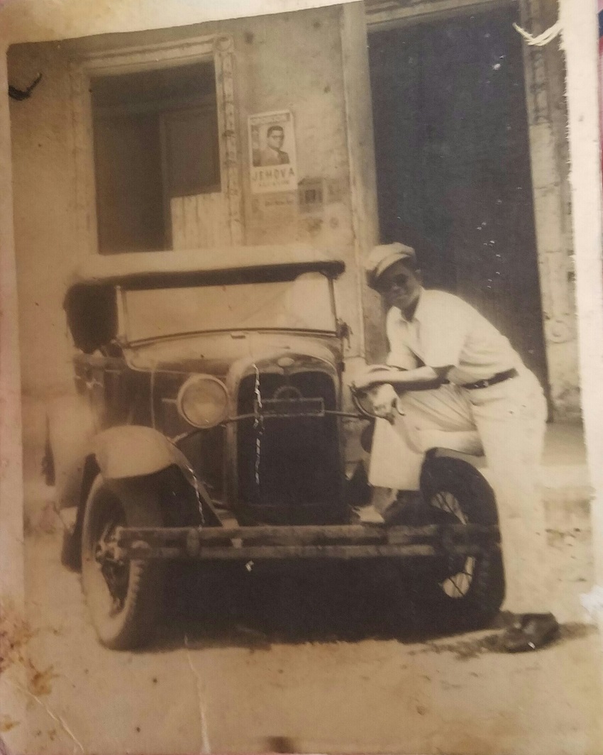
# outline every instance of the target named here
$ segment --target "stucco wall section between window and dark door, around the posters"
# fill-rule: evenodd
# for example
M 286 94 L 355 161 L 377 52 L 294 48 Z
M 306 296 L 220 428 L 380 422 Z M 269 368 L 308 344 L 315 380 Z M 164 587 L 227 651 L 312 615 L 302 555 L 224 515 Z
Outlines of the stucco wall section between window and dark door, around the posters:
M 346 143 L 340 9 L 306 11 L 245 23 L 226 23 L 237 48 L 251 62 L 241 71 L 239 101 L 246 113 L 291 109 L 297 135 L 301 182 L 327 182 L 324 211 L 305 213 L 295 205 L 274 208 L 252 195 L 244 174 L 248 243 L 303 240 L 318 246 L 350 248 L 352 220 Z M 242 26 L 245 26 L 242 29 Z M 248 138 L 241 123 L 243 162 Z M 291 198 L 293 199 L 293 198 Z

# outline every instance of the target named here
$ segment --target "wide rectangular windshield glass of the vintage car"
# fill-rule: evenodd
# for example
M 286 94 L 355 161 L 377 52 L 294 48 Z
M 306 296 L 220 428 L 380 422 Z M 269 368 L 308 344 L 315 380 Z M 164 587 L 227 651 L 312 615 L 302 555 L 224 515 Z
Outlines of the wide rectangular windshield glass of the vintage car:
M 294 281 L 124 292 L 129 342 L 221 330 L 336 330 L 331 282 L 321 273 Z

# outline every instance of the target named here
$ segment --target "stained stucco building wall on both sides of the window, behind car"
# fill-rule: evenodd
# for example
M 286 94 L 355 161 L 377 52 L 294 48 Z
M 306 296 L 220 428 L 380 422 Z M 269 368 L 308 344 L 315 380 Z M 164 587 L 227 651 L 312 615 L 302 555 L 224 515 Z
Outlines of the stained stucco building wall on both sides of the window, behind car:
M 245 243 L 311 242 L 346 258 L 350 272 L 340 282 L 339 304 L 352 327 L 350 353 L 358 353 L 361 331 L 354 267 L 346 107 L 341 58 L 340 8 L 229 20 L 150 32 L 111 35 L 85 42 L 140 45 L 214 32 L 235 42 L 238 130 L 245 218 Z M 78 43 L 79 48 L 82 44 Z M 35 407 L 26 429 L 37 438 L 42 414 L 31 399 L 70 390 L 71 346 L 61 307 L 64 281 L 85 251 L 78 239 L 75 159 L 69 57 L 60 42 L 13 45 L 11 82 L 26 86 L 44 78 L 29 100 L 11 103 L 14 223 L 17 249 L 23 394 Z M 252 195 L 249 183 L 248 115 L 291 109 L 297 142 L 298 177 L 320 179 L 324 205 L 300 209 L 297 193 L 284 205 Z M 81 199 L 81 198 L 80 198 Z

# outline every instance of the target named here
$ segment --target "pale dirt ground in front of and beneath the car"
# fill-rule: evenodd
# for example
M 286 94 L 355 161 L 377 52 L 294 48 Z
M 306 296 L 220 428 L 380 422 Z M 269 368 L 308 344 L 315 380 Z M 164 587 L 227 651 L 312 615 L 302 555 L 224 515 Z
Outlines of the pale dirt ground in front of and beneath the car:
M 551 535 L 577 603 L 589 532 Z M 603 753 L 601 640 L 580 621 L 509 656 L 497 629 L 417 633 L 366 567 L 241 565 L 173 575 L 155 644 L 112 652 L 59 552 L 57 529 L 26 538 L 29 753 Z

